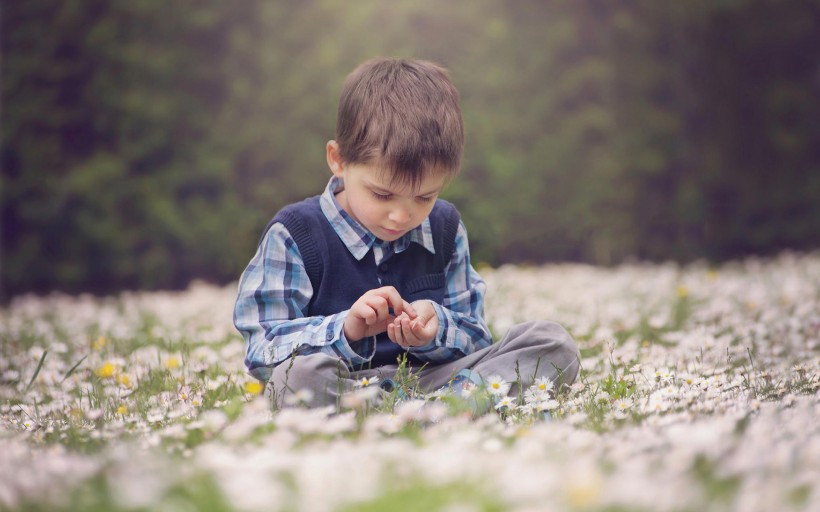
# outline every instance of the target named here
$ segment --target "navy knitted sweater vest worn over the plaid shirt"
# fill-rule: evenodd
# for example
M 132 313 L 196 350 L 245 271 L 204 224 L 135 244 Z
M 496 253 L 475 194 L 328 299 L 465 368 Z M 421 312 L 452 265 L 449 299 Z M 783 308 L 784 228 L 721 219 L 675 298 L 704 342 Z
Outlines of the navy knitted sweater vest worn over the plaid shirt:
M 268 224 L 281 222 L 293 237 L 305 265 L 313 297 L 306 316 L 327 316 L 350 309 L 365 292 L 381 286 L 394 286 L 407 302 L 428 299 L 441 304 L 447 290 L 444 267 L 455 251 L 459 214 L 456 208 L 439 199 L 430 213 L 435 254 L 420 244 L 393 254 L 376 266 L 373 249 L 356 260 L 327 221 L 319 196 L 283 208 Z M 267 229 L 265 230 L 267 232 Z M 381 283 L 379 282 L 381 279 Z M 361 367 L 396 364 L 407 353 L 390 341 L 387 333 L 376 338 L 373 359 Z M 419 361 L 407 353 L 410 363 Z

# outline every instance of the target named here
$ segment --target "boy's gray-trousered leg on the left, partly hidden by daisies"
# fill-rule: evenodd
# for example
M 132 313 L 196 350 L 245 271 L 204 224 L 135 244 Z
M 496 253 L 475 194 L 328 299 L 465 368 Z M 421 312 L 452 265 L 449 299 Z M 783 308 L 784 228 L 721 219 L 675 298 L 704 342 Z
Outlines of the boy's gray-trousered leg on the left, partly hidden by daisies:
M 379 369 L 351 372 L 342 360 L 327 354 L 296 356 L 273 369 L 269 386 L 277 407 L 289 405 L 288 397 L 307 390 L 307 405 L 337 405 L 344 393 L 354 389 L 356 380 L 379 375 Z

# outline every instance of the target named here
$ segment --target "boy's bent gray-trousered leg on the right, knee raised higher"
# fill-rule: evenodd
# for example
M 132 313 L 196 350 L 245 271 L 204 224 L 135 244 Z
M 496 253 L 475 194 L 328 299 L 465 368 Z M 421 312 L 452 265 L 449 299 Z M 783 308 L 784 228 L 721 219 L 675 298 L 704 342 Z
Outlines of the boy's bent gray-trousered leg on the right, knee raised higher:
M 515 396 L 539 377 L 548 377 L 556 388 L 572 384 L 580 369 L 580 354 L 566 329 L 555 322 L 536 320 L 513 326 L 501 340 L 483 350 L 423 369 L 419 383 L 425 391 L 432 391 L 446 386 L 462 369 L 484 379 L 501 376 L 512 383 L 509 394 Z

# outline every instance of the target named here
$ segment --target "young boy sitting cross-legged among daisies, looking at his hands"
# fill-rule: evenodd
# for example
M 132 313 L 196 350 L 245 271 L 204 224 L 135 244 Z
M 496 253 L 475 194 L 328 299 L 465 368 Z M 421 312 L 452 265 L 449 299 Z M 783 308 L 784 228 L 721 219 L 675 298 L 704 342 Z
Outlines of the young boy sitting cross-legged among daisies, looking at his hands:
M 467 231 L 438 199 L 463 145 L 458 91 L 441 67 L 374 59 L 348 76 L 330 182 L 273 218 L 239 283 L 245 365 L 280 405 L 300 390 L 334 404 L 364 377 L 389 384 L 399 357 L 424 391 L 455 375 L 479 385 L 499 375 L 510 394 L 539 377 L 574 381 L 578 350 L 555 323 L 492 342 Z

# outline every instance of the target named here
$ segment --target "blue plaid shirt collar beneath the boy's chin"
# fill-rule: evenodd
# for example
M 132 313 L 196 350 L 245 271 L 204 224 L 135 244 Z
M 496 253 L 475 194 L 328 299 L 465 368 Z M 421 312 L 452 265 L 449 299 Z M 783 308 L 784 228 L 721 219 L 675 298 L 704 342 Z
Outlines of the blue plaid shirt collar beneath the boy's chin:
M 368 231 L 364 226 L 356 222 L 353 217 L 339 206 L 336 201 L 336 193 L 344 190 L 344 182 L 333 176 L 325 187 L 322 197 L 319 199 L 319 204 L 322 207 L 322 212 L 327 217 L 327 221 L 333 226 L 333 230 L 342 239 L 342 242 L 348 248 L 350 253 L 357 260 L 361 260 L 370 251 L 374 244 L 392 245 L 394 253 L 400 253 L 410 246 L 411 242 L 416 242 L 422 247 L 435 254 L 436 249 L 433 245 L 433 231 L 430 228 L 430 219 L 424 219 L 420 226 L 411 229 L 398 240 L 390 243 L 383 242 L 376 238 L 373 233 Z

